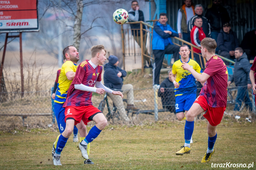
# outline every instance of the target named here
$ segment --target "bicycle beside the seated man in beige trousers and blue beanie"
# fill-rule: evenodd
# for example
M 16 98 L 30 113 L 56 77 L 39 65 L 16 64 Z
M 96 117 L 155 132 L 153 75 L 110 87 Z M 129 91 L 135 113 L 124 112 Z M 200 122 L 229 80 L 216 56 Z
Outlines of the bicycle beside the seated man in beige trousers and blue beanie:
M 119 113 L 117 111 L 117 108 L 115 107 L 115 104 L 113 103 L 113 108 L 112 109 L 109 106 L 109 101 L 108 101 L 107 96 L 108 96 L 108 94 L 106 93 L 104 95 L 103 100 L 100 102 L 100 104 L 98 106 L 98 109 L 103 113 L 105 105 L 107 104 L 108 113 L 106 114 L 106 119 L 107 119 L 108 122 L 110 121 L 110 119 L 112 119 L 112 122 L 114 124 L 115 123 L 115 119 L 120 120 L 120 117 L 119 117 Z M 123 103 L 124 103 L 125 110 L 126 110 L 127 99 L 123 99 Z M 129 116 L 129 112 L 130 112 L 130 110 L 127 110 L 127 116 Z

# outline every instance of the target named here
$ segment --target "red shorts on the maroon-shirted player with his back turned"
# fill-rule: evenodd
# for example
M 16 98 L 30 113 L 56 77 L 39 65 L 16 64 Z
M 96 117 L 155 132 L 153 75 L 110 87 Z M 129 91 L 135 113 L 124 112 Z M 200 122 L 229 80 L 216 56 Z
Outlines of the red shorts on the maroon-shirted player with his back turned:
M 194 103 L 198 103 L 206 113 L 203 115 L 212 126 L 217 126 L 223 117 L 225 107 L 210 107 L 206 101 L 206 98 L 200 95 Z

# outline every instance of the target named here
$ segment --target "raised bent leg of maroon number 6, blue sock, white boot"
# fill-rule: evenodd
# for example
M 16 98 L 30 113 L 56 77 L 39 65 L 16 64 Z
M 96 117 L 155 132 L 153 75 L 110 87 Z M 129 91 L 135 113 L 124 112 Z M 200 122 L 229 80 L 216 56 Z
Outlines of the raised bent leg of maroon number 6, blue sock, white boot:
M 96 123 L 96 125 L 91 128 L 85 139 L 79 143 L 79 150 L 82 153 L 82 157 L 85 158 L 86 160 L 88 160 L 88 143 L 92 142 L 107 125 L 107 119 L 105 118 L 103 113 L 98 113 L 95 116 L 93 116 L 93 121 Z

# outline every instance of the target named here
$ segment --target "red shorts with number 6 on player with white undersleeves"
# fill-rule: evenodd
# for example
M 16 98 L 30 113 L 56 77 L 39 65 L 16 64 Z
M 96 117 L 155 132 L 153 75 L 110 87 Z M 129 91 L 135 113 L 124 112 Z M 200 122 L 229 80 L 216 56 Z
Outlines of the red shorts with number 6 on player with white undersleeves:
M 75 120 L 75 125 L 80 123 L 81 120 L 84 122 L 85 125 L 87 125 L 87 123 L 91 121 L 88 118 L 96 113 L 101 113 L 101 111 L 92 105 L 67 106 L 65 108 L 65 122 L 67 118 L 73 118 Z

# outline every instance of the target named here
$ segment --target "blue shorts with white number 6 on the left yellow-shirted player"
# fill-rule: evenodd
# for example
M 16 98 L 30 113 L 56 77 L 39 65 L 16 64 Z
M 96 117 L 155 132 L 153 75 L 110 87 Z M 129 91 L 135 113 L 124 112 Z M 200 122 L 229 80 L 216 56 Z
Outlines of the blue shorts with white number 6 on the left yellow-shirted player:
M 60 133 L 62 133 L 66 128 L 65 123 L 65 108 L 62 107 L 64 103 L 54 102 L 54 114 L 57 120 Z M 74 131 L 77 132 L 77 127 L 74 126 Z

